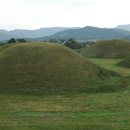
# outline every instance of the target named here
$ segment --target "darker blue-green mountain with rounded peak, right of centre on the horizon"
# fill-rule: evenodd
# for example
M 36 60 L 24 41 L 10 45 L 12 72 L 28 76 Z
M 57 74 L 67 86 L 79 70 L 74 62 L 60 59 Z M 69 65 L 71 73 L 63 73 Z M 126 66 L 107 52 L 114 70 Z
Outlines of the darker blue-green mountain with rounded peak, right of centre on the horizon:
M 103 39 L 115 39 L 123 38 L 130 35 L 129 31 L 113 28 L 97 28 L 97 27 L 84 27 L 79 29 L 67 29 L 51 35 L 50 39 L 69 39 L 76 40 L 103 40 Z M 44 38 L 43 38 L 44 40 Z

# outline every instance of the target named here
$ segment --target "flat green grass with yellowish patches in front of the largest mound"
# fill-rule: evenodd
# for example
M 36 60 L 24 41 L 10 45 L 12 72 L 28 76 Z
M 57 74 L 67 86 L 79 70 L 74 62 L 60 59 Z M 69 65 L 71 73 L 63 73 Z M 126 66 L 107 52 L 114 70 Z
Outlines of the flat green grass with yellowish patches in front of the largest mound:
M 130 92 L 0 95 L 0 130 L 129 130 Z

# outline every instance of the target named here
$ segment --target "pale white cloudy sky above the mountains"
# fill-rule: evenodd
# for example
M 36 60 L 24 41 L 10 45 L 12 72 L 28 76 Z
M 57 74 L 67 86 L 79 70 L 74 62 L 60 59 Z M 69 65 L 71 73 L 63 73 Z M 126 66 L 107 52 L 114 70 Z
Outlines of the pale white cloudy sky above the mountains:
M 0 0 L 0 28 L 130 24 L 130 0 Z

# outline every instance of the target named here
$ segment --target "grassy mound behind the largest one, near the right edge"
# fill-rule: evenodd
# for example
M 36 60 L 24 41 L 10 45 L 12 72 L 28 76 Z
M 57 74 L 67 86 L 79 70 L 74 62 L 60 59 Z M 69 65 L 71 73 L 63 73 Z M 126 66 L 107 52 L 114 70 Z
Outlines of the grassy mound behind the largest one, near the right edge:
M 86 47 L 81 52 L 85 57 L 95 58 L 125 58 L 130 55 L 130 41 L 106 40 Z

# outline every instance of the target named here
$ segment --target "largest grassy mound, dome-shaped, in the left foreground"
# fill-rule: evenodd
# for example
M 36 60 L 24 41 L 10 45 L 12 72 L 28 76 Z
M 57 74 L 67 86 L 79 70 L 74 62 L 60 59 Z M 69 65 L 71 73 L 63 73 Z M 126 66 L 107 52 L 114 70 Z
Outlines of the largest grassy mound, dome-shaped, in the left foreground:
M 21 43 L 0 52 L 0 93 L 112 92 L 123 86 L 117 74 L 58 44 Z

